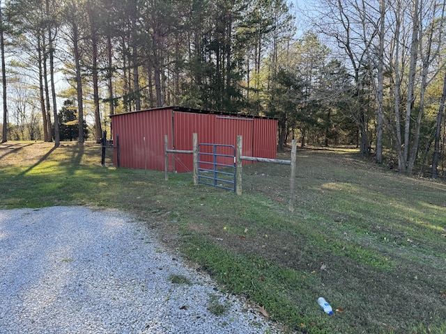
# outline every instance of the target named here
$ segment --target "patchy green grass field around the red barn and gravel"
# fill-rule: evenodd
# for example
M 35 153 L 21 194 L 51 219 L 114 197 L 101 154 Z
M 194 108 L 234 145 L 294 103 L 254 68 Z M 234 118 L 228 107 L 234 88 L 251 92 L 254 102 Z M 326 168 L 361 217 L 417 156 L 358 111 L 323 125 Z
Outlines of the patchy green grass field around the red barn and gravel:
M 289 166 L 244 166 L 237 196 L 194 186 L 190 173 L 166 182 L 163 172 L 116 169 L 111 159 L 102 167 L 98 145 L 6 143 L 0 207 L 130 212 L 290 333 L 446 333 L 446 184 L 356 154 L 298 150 L 291 213 Z

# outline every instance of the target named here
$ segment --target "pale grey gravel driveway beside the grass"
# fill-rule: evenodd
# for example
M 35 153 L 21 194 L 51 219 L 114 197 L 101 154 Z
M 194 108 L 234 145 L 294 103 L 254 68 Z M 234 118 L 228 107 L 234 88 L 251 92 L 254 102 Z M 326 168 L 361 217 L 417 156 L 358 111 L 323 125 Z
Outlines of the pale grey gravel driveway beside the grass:
M 279 332 L 132 217 L 48 207 L 0 210 L 0 333 Z

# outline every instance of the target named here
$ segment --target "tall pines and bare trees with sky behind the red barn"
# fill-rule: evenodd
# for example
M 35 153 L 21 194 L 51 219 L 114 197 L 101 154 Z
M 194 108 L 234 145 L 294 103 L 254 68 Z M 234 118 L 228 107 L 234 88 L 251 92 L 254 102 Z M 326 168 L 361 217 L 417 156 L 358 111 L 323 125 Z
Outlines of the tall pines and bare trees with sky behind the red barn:
M 109 115 L 175 105 L 445 176 L 445 1 L 0 3 L 2 142 L 98 141 Z

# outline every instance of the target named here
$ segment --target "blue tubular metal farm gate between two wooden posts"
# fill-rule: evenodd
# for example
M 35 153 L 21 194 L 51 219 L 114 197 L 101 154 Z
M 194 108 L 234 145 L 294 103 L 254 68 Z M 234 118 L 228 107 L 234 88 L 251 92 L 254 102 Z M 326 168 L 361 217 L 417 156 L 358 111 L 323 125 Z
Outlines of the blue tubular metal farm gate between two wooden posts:
M 233 145 L 198 145 L 198 183 L 236 191 L 236 148 Z

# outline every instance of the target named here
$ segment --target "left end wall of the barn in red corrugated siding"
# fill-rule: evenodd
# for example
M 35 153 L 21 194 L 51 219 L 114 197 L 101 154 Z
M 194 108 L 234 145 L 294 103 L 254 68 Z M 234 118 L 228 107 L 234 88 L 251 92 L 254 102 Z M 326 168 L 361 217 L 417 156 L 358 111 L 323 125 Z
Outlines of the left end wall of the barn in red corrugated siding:
M 121 166 L 164 170 L 165 134 L 169 138 L 169 147 L 171 148 L 172 145 L 171 115 L 170 109 L 164 109 L 124 113 L 112 117 L 115 145 L 116 135 L 119 135 Z M 144 137 L 146 138 L 145 150 Z

